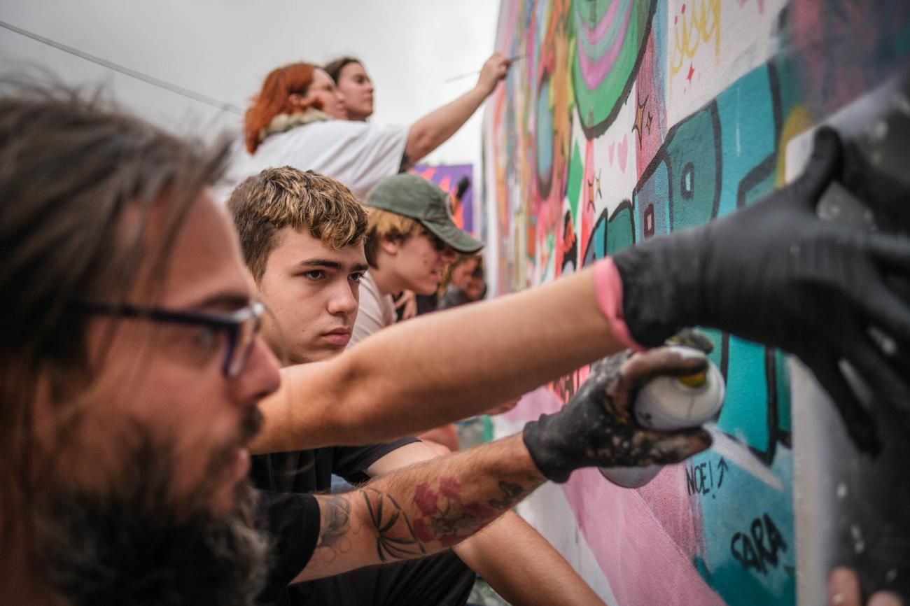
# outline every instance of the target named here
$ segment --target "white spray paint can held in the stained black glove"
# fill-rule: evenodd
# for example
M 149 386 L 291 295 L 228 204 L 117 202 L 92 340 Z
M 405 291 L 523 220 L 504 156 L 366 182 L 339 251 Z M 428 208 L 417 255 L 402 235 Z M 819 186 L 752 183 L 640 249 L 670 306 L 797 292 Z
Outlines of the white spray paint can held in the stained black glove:
M 684 348 L 691 352 L 692 348 Z M 686 377 L 658 377 L 639 389 L 633 404 L 638 424 L 647 429 L 699 427 L 713 419 L 726 393 L 721 371 L 709 361 L 703 372 Z M 600 468 L 603 477 L 623 488 L 639 488 L 654 479 L 662 465 Z

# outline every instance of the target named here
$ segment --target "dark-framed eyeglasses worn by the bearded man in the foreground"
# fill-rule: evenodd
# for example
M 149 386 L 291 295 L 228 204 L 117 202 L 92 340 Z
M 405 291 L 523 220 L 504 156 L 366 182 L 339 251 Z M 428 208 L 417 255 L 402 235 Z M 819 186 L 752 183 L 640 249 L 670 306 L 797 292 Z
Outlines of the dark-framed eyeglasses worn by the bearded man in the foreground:
M 221 372 L 229 379 L 238 377 L 246 368 L 249 355 L 256 344 L 259 328 L 262 326 L 262 314 L 266 310 L 261 301 L 254 301 L 246 308 L 231 313 L 141 308 L 103 301 L 79 301 L 76 306 L 87 313 L 102 316 L 203 326 L 222 331 L 227 335 L 227 349 Z

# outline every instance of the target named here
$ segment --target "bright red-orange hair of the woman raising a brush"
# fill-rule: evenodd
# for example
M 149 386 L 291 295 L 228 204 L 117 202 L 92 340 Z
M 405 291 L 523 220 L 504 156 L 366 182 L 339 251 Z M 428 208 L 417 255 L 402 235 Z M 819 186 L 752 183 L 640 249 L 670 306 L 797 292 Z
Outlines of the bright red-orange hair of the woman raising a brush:
M 292 63 L 269 72 L 266 81 L 262 83 L 262 90 L 244 118 L 243 135 L 250 154 L 259 146 L 259 132 L 271 124 L 278 114 L 293 114 L 305 111 L 310 106 L 322 109 L 318 100 L 310 106 L 292 105 L 290 102 L 290 96 L 294 93 L 307 94 L 316 68 L 311 63 Z

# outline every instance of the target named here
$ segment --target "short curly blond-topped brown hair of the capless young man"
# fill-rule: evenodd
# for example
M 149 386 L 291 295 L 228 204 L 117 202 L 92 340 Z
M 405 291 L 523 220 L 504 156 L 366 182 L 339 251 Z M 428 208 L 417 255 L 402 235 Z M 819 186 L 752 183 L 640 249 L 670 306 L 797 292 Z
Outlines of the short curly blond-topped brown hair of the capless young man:
M 308 230 L 327 247 L 359 246 L 367 235 L 367 211 L 348 187 L 333 178 L 294 167 L 266 168 L 231 193 L 234 216 L 247 267 L 258 282 L 284 227 Z

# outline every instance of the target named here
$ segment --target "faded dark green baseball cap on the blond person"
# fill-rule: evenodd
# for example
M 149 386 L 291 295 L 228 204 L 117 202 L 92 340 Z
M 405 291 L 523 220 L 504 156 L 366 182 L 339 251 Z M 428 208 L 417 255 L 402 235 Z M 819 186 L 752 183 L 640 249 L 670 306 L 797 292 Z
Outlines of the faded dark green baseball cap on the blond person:
M 476 253 L 483 247 L 483 242 L 455 225 L 449 194 L 423 177 L 409 173 L 386 177 L 373 187 L 364 204 L 417 219 L 460 253 Z

